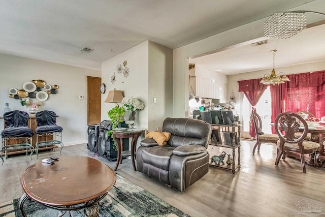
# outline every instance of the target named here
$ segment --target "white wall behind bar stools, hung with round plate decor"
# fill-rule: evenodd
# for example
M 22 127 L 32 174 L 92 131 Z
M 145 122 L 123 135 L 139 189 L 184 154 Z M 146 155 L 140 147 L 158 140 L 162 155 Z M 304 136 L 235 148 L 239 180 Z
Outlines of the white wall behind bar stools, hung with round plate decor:
M 58 93 L 49 95 L 41 110 L 52 110 L 63 128 L 64 145 L 87 143 L 87 76 L 101 77 L 101 71 L 84 69 L 25 57 L 0 54 L 0 109 L 8 102 L 12 110 L 26 111 L 19 100 L 9 98 L 9 89 L 22 89 L 23 83 L 44 80 L 58 85 Z M 85 100 L 79 100 L 84 96 Z M 30 99 L 36 102 L 36 99 Z M 3 119 L 0 119 L 0 131 Z M 64 150 L 64 149 L 63 149 Z

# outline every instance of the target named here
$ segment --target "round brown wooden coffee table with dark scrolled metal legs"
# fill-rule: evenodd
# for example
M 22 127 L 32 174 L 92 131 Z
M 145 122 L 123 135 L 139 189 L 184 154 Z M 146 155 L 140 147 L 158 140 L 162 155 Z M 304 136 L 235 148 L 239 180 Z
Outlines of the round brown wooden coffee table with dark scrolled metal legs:
M 99 216 L 98 202 L 116 182 L 114 171 L 104 163 L 81 156 L 62 156 L 55 164 L 38 162 L 21 177 L 25 194 L 20 210 L 30 198 L 53 209 L 72 211 L 84 208 L 86 216 Z

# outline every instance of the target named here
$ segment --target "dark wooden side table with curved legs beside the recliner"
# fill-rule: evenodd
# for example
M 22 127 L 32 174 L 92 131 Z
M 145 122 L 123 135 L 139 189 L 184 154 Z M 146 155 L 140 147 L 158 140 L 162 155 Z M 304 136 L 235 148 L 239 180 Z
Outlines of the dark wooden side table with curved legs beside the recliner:
M 131 156 L 133 169 L 137 171 L 136 164 L 135 164 L 135 149 L 137 146 L 137 141 L 139 136 L 141 136 L 142 130 L 135 130 L 135 131 L 124 131 L 124 132 L 114 132 L 113 131 L 113 138 L 116 142 L 117 146 L 117 161 L 114 171 L 117 170 L 117 167 L 120 163 L 122 163 L 123 157 Z M 125 138 L 132 138 L 131 141 L 131 151 L 124 150 L 123 151 L 123 139 Z

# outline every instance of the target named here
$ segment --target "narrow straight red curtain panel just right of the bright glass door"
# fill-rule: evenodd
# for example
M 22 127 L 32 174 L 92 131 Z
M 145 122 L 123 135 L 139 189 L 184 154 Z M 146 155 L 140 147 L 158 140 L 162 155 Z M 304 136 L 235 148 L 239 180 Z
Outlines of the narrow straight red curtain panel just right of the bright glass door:
M 275 122 L 276 116 L 285 112 L 285 88 L 283 84 L 271 85 L 271 123 Z M 272 133 L 276 134 L 274 126 Z

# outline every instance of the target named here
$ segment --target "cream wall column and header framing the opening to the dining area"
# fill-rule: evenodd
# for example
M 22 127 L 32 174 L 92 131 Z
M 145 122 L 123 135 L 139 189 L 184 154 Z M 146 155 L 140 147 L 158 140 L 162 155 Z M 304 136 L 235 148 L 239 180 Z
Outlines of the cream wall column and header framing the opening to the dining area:
M 324 5 L 325 1 L 316 0 L 292 10 L 309 10 L 324 13 Z M 310 13 L 308 16 L 310 16 Z M 254 43 L 262 41 L 265 39 L 263 36 L 263 24 L 266 19 L 267 18 L 257 20 L 255 22 L 230 29 L 218 35 L 214 35 L 207 39 L 194 42 L 192 44 L 188 44 L 173 50 L 173 115 L 175 117 L 184 117 L 188 113 L 188 58 L 222 48 L 227 48 L 233 45 L 238 45 L 240 43 Z M 227 99 L 229 99 L 232 89 L 232 87 L 227 87 Z

